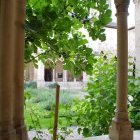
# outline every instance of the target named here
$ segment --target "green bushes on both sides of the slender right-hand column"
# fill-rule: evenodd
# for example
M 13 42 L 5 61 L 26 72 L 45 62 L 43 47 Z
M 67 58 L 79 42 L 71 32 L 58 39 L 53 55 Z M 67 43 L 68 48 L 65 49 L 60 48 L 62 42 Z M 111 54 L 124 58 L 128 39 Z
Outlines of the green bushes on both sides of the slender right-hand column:
M 86 99 L 76 106 L 79 133 L 85 137 L 108 134 L 116 104 L 116 58 L 101 54 L 93 65 L 93 75 L 87 84 Z M 140 129 L 140 80 L 132 75 L 129 63 L 129 115 L 134 129 Z M 131 72 L 131 73 L 130 73 Z

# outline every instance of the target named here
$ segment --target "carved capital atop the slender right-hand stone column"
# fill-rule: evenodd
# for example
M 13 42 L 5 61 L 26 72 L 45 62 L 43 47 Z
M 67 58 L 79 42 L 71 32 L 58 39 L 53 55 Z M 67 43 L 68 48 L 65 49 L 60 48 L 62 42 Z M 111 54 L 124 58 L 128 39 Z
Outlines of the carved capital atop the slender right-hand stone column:
M 115 0 L 115 5 L 118 13 L 127 13 L 130 0 Z

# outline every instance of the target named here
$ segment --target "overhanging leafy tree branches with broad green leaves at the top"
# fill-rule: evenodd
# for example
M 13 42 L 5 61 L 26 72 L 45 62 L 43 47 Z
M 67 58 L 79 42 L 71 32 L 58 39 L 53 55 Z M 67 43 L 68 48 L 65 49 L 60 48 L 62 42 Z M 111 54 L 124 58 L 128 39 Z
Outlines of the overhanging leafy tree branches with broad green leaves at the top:
M 26 9 L 25 63 L 50 58 L 54 66 L 62 59 L 75 75 L 92 73 L 96 59 L 81 29 L 93 40 L 106 39 L 104 26 L 111 21 L 106 0 L 28 0 Z

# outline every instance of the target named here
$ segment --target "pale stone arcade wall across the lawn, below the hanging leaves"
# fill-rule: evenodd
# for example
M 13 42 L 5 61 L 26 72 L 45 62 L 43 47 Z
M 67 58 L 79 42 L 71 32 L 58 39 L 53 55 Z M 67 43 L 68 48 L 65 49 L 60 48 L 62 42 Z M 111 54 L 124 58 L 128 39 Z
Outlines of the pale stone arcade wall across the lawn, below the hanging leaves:
M 49 85 L 57 82 L 60 84 L 62 89 L 82 89 L 85 87 L 85 83 L 88 81 L 88 76 L 85 72 L 81 74 L 80 77 L 74 78 L 69 71 L 63 70 L 63 65 L 60 60 L 56 62 L 56 66 L 53 69 L 52 81 L 45 81 L 44 79 L 44 69 L 45 66 L 42 62 L 38 62 L 38 72 L 37 72 L 37 86 L 49 87 Z M 71 78 L 70 78 L 71 77 Z M 72 78 L 73 77 L 73 78 Z M 71 80 L 69 80 L 71 79 Z

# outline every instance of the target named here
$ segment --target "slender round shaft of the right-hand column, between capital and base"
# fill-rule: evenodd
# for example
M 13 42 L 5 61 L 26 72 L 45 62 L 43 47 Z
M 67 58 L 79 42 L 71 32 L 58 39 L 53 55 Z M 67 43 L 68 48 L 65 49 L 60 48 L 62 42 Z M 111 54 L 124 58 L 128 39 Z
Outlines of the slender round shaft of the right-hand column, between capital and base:
M 127 13 L 117 15 L 117 111 L 127 112 L 128 89 L 128 32 Z M 118 116 L 120 117 L 120 116 Z M 128 115 L 122 116 L 128 119 Z

